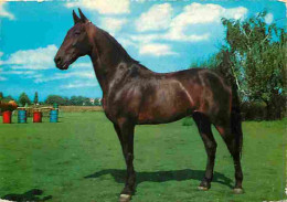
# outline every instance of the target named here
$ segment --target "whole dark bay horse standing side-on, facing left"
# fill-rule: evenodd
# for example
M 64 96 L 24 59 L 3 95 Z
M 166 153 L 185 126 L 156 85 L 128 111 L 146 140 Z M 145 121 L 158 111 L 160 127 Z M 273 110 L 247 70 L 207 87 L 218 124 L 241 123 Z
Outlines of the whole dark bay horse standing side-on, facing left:
M 78 9 L 54 61 L 67 70 L 88 55 L 103 89 L 103 108 L 114 124 L 127 166 L 119 201 L 130 201 L 136 189 L 134 131 L 136 125 L 156 125 L 192 116 L 204 142 L 208 162 L 199 190 L 209 190 L 213 178 L 216 142 L 213 124 L 225 141 L 235 167 L 235 193 L 243 193 L 241 151 L 243 142 L 236 88 L 211 70 L 190 68 L 156 73 L 141 65 L 106 31 L 94 25 Z

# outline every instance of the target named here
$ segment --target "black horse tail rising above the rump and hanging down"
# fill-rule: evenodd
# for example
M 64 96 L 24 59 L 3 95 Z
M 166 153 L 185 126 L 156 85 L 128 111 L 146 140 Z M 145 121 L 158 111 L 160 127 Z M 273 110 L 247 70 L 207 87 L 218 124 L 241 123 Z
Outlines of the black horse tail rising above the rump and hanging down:
M 236 83 L 235 75 L 232 71 L 232 62 L 230 61 L 228 51 L 222 51 L 223 61 L 219 65 L 220 73 L 227 79 L 231 85 L 231 134 L 235 138 L 236 149 L 242 157 L 243 148 L 243 132 L 242 132 L 242 116 L 241 116 L 241 102 L 238 96 L 238 85 Z

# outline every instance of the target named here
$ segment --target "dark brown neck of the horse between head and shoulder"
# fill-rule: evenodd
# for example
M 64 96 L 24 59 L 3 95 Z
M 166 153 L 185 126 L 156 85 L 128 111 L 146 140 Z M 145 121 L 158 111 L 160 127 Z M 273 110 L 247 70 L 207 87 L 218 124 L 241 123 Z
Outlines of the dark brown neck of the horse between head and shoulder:
M 115 43 L 110 39 L 97 30 L 89 56 L 104 96 L 108 93 L 116 74 L 119 71 L 123 73 L 123 65 L 120 64 L 132 62 L 131 57 L 120 49 L 123 47 L 115 46 Z M 121 66 L 120 70 L 119 66 Z M 127 65 L 124 66 L 127 71 Z

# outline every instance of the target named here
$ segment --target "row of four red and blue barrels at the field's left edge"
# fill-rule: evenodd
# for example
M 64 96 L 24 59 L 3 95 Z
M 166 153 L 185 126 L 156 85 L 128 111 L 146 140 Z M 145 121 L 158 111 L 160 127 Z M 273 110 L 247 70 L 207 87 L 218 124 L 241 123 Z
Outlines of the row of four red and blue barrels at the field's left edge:
M 12 123 L 12 113 L 10 110 L 3 111 L 3 124 Z M 50 110 L 50 123 L 57 123 L 59 120 L 59 111 Z M 25 124 L 26 123 L 26 110 L 18 110 L 18 123 Z M 42 123 L 42 113 L 34 111 L 33 113 L 33 123 Z

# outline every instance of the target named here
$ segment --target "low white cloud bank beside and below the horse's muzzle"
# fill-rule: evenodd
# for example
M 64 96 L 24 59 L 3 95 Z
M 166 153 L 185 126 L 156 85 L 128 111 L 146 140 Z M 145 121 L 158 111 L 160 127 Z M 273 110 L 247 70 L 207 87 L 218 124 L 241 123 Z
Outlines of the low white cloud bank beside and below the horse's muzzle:
M 70 72 L 47 74 L 45 70 L 55 68 L 53 57 L 56 51 L 57 47 L 54 44 L 35 50 L 20 50 L 9 55 L 9 59 L 6 61 L 1 61 L 3 53 L 0 52 L 0 64 L 2 62 L 4 65 L 4 68 L 0 68 L 1 75 L 18 75 L 21 78 L 32 78 L 34 83 L 66 78 L 95 78 L 93 65 L 88 62 L 72 64 Z M 1 81 L 4 79 L 7 78 L 1 77 Z

